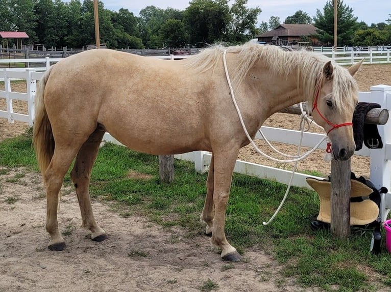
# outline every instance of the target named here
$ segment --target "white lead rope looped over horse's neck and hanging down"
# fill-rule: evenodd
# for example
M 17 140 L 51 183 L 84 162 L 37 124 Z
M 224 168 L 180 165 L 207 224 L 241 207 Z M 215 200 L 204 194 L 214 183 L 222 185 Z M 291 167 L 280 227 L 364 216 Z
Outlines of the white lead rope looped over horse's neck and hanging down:
M 304 134 L 304 120 L 307 122 L 308 124 L 308 127 L 309 127 L 309 124 L 312 122 L 312 120 L 310 120 L 308 118 L 308 115 L 307 113 L 303 110 L 303 106 L 302 104 L 300 104 L 300 108 L 301 108 L 301 111 L 302 111 L 302 114 L 301 114 L 301 119 L 302 119 L 302 122 L 300 123 L 300 128 L 301 128 L 301 136 L 300 136 L 300 143 L 299 143 L 299 147 L 298 147 L 298 152 L 297 152 L 297 155 L 287 155 L 287 154 L 284 154 L 280 151 L 278 151 L 277 149 L 275 149 L 272 144 L 266 139 L 266 137 L 264 136 L 264 134 L 262 133 L 262 131 L 259 129 L 259 133 L 261 134 L 261 136 L 263 137 L 263 139 L 266 141 L 266 143 L 273 149 L 275 150 L 277 153 L 285 156 L 285 157 L 294 157 L 294 159 L 290 159 L 290 160 L 281 160 L 281 159 L 277 159 L 277 158 L 274 158 L 274 157 L 271 157 L 271 156 L 268 156 L 267 154 L 263 153 L 258 147 L 257 145 L 255 144 L 254 140 L 251 138 L 249 132 L 247 131 L 247 128 L 246 128 L 246 125 L 245 125 L 245 122 L 243 121 L 243 118 L 242 118 L 242 115 L 240 113 L 240 109 L 236 103 L 236 99 L 235 99 L 235 96 L 234 96 L 234 91 L 233 91 L 233 88 L 232 88 L 232 84 L 231 84 L 231 79 L 229 77 L 229 73 L 228 73 L 228 68 L 227 68 L 227 60 L 226 60 L 226 54 L 227 54 L 227 49 L 224 50 L 224 53 L 223 53 L 223 64 L 224 64 L 224 70 L 225 70 L 225 73 L 226 73 L 226 78 L 227 78 L 227 82 L 228 82 L 228 86 L 229 86 L 229 89 L 230 89 L 230 93 L 231 93 L 231 98 L 232 98 L 232 102 L 234 103 L 235 105 L 235 108 L 236 108 L 236 112 L 239 116 L 239 120 L 240 120 L 240 124 L 243 128 L 243 131 L 245 131 L 246 133 L 246 136 L 247 138 L 249 139 L 251 145 L 253 145 L 254 149 L 261 155 L 263 155 L 264 157 L 268 158 L 268 159 L 271 159 L 273 161 L 276 161 L 276 162 L 283 162 L 283 163 L 288 163 L 288 162 L 295 162 L 295 165 L 294 165 L 294 169 L 292 170 L 292 173 L 291 173 L 291 176 L 290 176 L 290 180 L 289 180 L 289 183 L 288 183 L 288 187 L 286 189 L 286 192 L 285 192 L 285 195 L 280 203 L 280 206 L 278 206 L 276 212 L 273 214 L 272 218 L 270 218 L 269 221 L 267 222 L 262 222 L 263 225 L 268 225 L 269 223 L 271 223 L 273 221 L 273 219 L 277 216 L 278 212 L 280 211 L 280 209 L 282 208 L 282 206 L 284 205 L 284 202 L 285 202 L 285 199 L 286 197 L 288 196 L 288 193 L 289 193 L 289 190 L 290 190 L 290 186 L 292 185 L 292 181 L 293 181 L 293 178 L 295 176 L 295 172 L 297 170 L 297 164 L 299 161 L 303 160 L 304 158 L 306 158 L 309 154 L 311 154 L 312 152 L 314 152 L 320 145 L 321 143 L 326 139 L 326 136 L 321 139 L 321 141 L 319 143 L 317 143 L 315 145 L 315 147 L 313 149 L 311 149 L 310 151 L 307 151 L 303 154 L 300 154 L 300 151 L 301 151 L 301 146 L 302 146 L 302 141 L 303 141 L 303 134 Z M 316 124 L 315 124 L 316 125 Z M 318 126 L 318 125 L 316 125 Z M 318 126 L 320 127 L 320 126 Z M 308 129 L 307 129 L 308 131 Z

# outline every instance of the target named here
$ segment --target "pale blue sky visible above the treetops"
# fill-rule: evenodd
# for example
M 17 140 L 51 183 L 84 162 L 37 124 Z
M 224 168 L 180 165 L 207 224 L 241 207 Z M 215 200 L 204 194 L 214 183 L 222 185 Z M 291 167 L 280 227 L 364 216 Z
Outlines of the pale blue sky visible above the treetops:
M 146 6 L 155 6 L 166 9 L 167 7 L 185 10 L 189 6 L 189 0 L 100 0 L 105 4 L 105 8 L 118 11 L 120 8 L 128 9 L 138 16 L 138 12 Z M 231 0 L 231 3 L 233 0 Z M 295 14 L 296 11 L 302 10 L 307 12 L 311 17 L 315 16 L 316 9 L 323 11 L 327 0 L 248 0 L 247 7 L 259 7 L 262 12 L 258 18 L 258 24 L 261 21 L 268 21 L 271 16 L 280 17 L 281 23 L 287 16 Z M 344 0 L 344 4 L 353 9 L 354 16 L 358 21 L 364 21 L 366 24 L 385 22 L 390 18 L 391 0 Z

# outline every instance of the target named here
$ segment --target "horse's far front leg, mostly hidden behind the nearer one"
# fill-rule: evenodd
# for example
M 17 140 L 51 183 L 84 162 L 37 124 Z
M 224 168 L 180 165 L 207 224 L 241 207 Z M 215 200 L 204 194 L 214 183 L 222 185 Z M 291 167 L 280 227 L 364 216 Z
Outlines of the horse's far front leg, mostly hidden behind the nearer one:
M 206 198 L 204 209 L 202 209 L 201 220 L 204 221 L 206 225 L 205 235 L 211 236 L 213 231 L 213 187 L 214 186 L 214 158 L 212 153 L 212 158 L 210 160 L 208 179 L 206 181 Z

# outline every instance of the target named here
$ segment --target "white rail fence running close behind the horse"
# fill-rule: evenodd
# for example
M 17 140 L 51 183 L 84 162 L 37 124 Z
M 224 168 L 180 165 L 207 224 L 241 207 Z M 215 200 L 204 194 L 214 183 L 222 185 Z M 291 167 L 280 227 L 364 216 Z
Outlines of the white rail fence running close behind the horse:
M 177 59 L 183 56 L 167 56 L 165 59 Z M 22 121 L 33 125 L 34 120 L 34 97 L 36 92 L 36 82 L 43 75 L 42 72 L 35 72 L 30 69 L 24 71 L 15 71 L 14 69 L 0 70 L 0 77 L 4 78 L 5 90 L 0 91 L 1 99 L 5 99 L 7 109 L 0 110 L 0 118 L 6 118 L 10 123 L 14 121 Z M 18 93 L 12 91 L 11 80 L 24 79 L 27 83 L 27 93 Z M 12 101 L 21 100 L 28 104 L 28 113 L 14 112 Z M 371 87 L 371 92 L 360 92 L 359 100 L 363 102 L 374 102 L 381 105 L 381 108 L 391 109 L 391 86 L 377 85 Z M 0 103 L 1 104 L 1 103 Z M 1 108 L 0 108 L 1 109 Z M 370 180 L 378 188 L 384 186 L 388 189 L 388 194 L 383 195 L 381 214 L 385 220 L 388 210 L 391 209 L 391 122 L 388 121 L 385 125 L 378 126 L 379 134 L 383 139 L 383 148 L 370 150 L 363 145 L 363 148 L 356 152 L 355 155 L 370 157 Z M 281 128 L 262 127 L 262 131 L 273 142 L 282 142 L 292 145 L 297 145 L 300 141 L 300 131 L 286 130 Z M 314 147 L 319 142 L 324 134 L 304 133 L 303 147 Z M 256 138 L 261 139 L 258 134 Z M 120 144 L 109 133 L 104 136 L 104 141 Z M 326 149 L 326 143 L 321 144 L 320 149 Z M 175 158 L 192 161 L 196 171 L 205 172 L 210 165 L 211 154 L 205 151 L 196 151 L 186 154 L 176 155 Z M 319 159 L 322 159 L 321 157 Z M 354 170 L 354 169 L 353 169 Z M 282 184 L 288 184 L 291 171 L 285 169 L 274 168 L 270 166 L 258 165 L 246 161 L 237 160 L 235 172 L 247 174 L 249 176 L 258 177 L 276 181 Z M 296 187 L 304 187 L 310 189 L 305 179 L 313 177 L 304 173 L 295 173 L 292 185 Z M 321 179 L 321 178 L 317 178 Z

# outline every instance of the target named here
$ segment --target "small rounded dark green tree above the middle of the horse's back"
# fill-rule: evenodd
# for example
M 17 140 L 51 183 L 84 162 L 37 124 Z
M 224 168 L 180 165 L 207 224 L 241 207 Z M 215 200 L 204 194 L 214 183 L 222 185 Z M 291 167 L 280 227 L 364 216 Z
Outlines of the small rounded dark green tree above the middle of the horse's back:
M 160 28 L 160 36 L 164 40 L 165 46 L 170 48 L 181 48 L 188 43 L 185 25 L 178 19 L 168 19 Z

